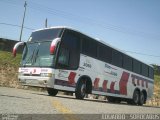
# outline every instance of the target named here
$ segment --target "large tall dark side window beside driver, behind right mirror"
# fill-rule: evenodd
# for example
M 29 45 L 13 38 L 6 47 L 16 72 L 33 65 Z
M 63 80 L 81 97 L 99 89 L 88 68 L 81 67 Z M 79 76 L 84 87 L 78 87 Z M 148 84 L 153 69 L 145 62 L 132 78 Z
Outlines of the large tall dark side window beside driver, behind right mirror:
M 79 66 L 80 39 L 78 34 L 66 31 L 61 41 L 58 66 L 65 69 L 76 69 Z

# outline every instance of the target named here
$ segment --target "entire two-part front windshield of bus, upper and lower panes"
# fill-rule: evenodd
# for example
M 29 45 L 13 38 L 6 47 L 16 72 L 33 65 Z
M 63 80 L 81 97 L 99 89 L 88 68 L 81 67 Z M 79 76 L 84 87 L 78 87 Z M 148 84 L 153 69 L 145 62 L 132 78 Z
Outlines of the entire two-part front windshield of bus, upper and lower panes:
M 50 45 L 61 33 L 61 28 L 33 32 L 25 45 L 21 66 L 54 67 L 54 55 L 50 55 Z

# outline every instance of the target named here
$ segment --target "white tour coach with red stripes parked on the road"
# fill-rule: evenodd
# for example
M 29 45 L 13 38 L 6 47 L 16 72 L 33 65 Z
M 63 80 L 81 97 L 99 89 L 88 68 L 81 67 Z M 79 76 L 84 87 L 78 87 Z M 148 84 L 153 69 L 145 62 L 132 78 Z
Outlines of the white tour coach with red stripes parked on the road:
M 154 71 L 122 51 L 68 27 L 34 31 L 24 45 L 18 79 L 46 87 L 48 94 L 75 92 L 106 96 L 109 102 L 143 105 L 153 95 Z

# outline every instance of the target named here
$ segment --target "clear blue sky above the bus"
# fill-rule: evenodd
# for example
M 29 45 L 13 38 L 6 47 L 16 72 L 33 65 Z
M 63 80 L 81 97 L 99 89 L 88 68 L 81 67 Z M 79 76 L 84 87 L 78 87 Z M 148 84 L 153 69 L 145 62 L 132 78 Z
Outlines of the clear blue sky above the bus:
M 25 0 L 0 0 L 0 37 L 19 40 Z M 147 64 L 160 65 L 160 0 L 26 0 L 22 40 L 69 26 Z

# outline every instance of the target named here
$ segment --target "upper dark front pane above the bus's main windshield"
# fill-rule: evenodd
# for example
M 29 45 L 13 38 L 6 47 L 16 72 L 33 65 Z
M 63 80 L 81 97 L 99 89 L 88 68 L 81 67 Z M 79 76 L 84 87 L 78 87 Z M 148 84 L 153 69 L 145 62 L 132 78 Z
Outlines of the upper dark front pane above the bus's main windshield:
M 29 41 L 45 41 L 45 40 L 53 40 L 60 36 L 62 29 L 45 29 L 33 32 Z

